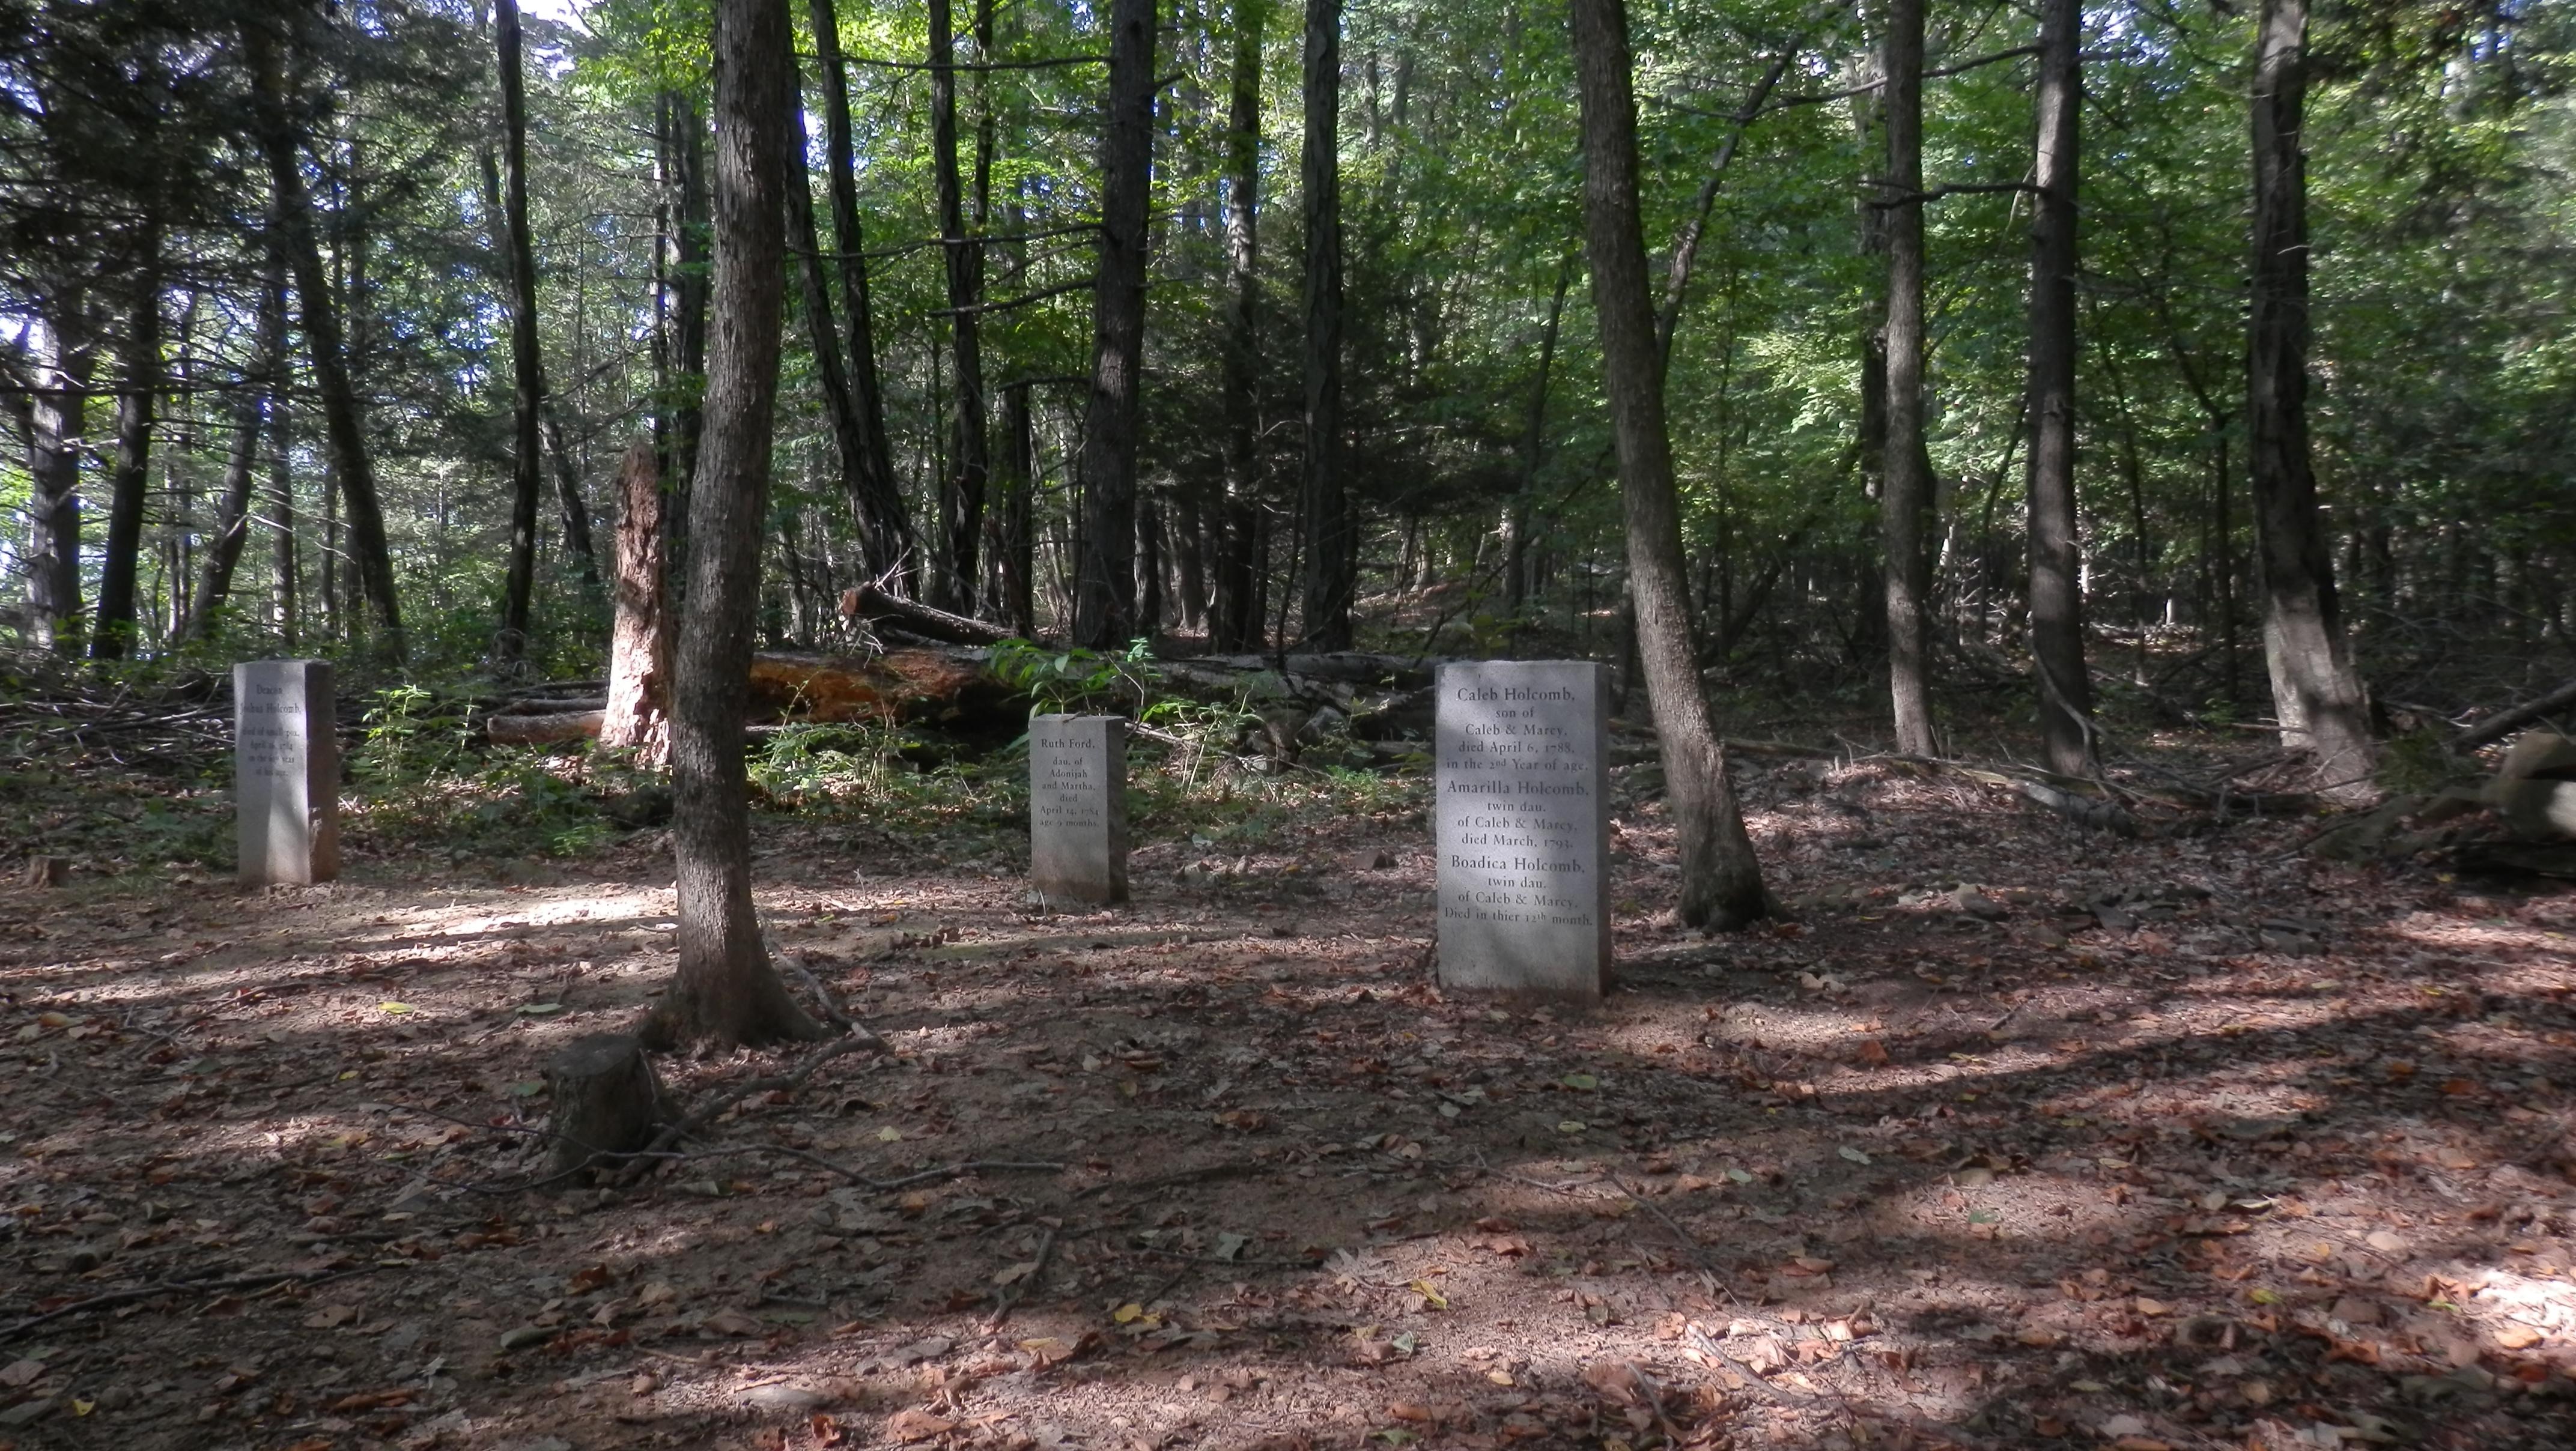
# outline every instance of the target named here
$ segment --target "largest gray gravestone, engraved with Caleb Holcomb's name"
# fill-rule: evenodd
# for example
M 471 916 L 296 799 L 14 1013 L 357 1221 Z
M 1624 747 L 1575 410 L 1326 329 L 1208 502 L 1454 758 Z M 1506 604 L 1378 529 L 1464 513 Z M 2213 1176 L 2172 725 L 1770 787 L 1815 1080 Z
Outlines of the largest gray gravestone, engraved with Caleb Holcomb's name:
M 1597 1003 L 1610 982 L 1610 668 L 1440 668 L 1440 987 Z

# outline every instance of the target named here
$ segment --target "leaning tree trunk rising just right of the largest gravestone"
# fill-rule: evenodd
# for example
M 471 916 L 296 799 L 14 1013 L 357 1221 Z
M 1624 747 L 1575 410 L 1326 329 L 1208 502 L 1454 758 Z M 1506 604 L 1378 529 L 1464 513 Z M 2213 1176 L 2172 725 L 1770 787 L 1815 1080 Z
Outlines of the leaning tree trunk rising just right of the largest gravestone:
M 1762 918 L 1762 863 L 1726 771 L 1726 742 L 1692 660 L 1682 503 L 1664 425 L 1664 366 L 1636 198 L 1636 93 L 1623 0 L 1574 0 L 1574 75 L 1584 131 L 1584 250 L 1600 314 L 1602 381 L 1628 523 L 1628 588 L 1664 791 L 1682 848 L 1682 920 L 1736 928 Z

